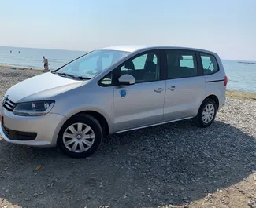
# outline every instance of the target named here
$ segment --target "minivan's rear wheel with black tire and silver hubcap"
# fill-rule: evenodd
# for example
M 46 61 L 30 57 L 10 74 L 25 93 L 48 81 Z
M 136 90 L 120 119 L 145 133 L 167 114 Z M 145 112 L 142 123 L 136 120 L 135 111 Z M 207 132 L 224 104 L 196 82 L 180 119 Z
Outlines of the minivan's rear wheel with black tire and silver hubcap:
M 210 111 L 208 111 L 208 114 L 206 114 L 207 109 L 210 109 Z M 210 112 L 213 112 L 213 115 Z M 206 114 L 205 119 L 203 118 L 203 114 Z M 216 114 L 217 114 L 217 104 L 215 103 L 214 100 L 207 98 L 206 100 L 203 101 L 203 103 L 201 104 L 198 110 L 198 115 L 196 115 L 195 117 L 195 125 L 201 128 L 206 128 L 210 126 L 214 122 Z M 209 117 L 210 120 L 207 119 L 207 117 Z

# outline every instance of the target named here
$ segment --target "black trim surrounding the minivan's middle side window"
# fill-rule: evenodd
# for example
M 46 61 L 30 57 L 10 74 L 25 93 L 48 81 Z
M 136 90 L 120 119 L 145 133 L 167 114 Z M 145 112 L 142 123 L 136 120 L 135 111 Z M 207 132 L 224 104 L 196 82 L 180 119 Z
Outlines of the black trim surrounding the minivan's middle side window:
M 195 53 L 195 59 L 194 62 L 195 62 L 195 68 L 196 68 L 196 71 L 197 71 L 197 75 L 195 76 L 191 76 L 191 77 L 181 77 L 181 78 L 193 78 L 193 77 L 198 77 L 200 76 L 200 70 L 199 70 L 199 66 L 198 66 L 198 56 L 197 56 L 197 52 L 193 49 L 165 49 L 164 50 L 164 53 L 163 53 L 163 59 L 165 60 L 165 80 L 173 80 L 173 79 L 180 79 L 180 78 L 168 78 L 168 60 L 167 60 L 167 54 L 168 54 L 168 51 L 185 51 L 185 52 L 191 52 L 191 53 Z

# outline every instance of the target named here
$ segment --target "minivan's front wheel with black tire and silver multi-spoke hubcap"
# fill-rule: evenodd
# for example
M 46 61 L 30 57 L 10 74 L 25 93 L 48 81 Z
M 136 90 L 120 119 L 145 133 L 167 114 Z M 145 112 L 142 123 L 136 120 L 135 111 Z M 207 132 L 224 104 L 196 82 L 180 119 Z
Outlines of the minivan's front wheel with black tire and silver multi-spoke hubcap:
M 74 115 L 61 127 L 57 146 L 72 158 L 86 158 L 102 144 L 102 127 L 91 115 Z

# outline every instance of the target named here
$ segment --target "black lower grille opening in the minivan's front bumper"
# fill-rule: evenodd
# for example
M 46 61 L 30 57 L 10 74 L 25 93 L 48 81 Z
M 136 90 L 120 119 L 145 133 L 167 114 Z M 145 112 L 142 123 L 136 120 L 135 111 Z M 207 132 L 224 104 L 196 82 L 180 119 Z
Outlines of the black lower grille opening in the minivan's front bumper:
M 37 133 L 9 130 L 4 125 L 2 125 L 2 131 L 9 140 L 35 140 L 37 136 Z

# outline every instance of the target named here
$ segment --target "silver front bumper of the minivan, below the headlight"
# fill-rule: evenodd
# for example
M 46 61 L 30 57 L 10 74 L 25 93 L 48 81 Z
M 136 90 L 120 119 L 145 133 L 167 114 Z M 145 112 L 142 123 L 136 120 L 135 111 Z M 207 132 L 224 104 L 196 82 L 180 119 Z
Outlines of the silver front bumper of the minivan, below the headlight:
M 55 147 L 58 139 L 58 132 L 61 126 L 65 122 L 65 117 L 58 114 L 47 114 L 43 116 L 18 116 L 13 112 L 6 111 L 5 108 L 0 108 L 0 114 L 3 117 L 3 127 L 0 124 L 0 134 L 9 143 L 22 144 L 28 146 L 37 147 Z M 12 135 L 22 134 L 22 140 L 20 137 L 13 137 L 6 133 L 7 130 L 11 130 Z M 24 138 L 24 133 L 28 135 L 32 134 L 34 137 L 28 137 L 28 140 Z M 32 139 L 31 139 L 32 138 Z

